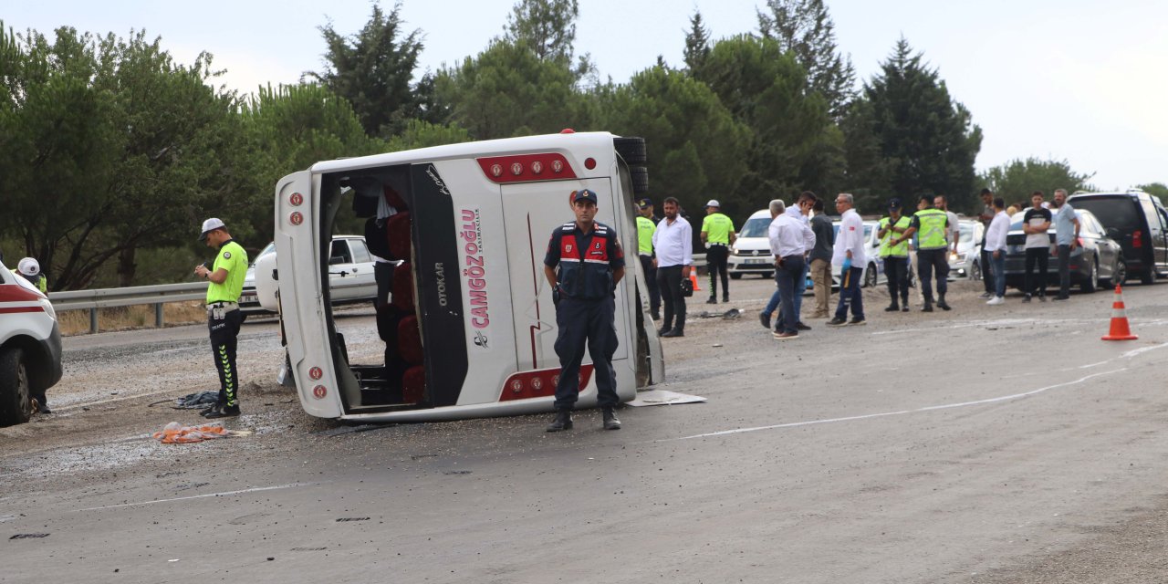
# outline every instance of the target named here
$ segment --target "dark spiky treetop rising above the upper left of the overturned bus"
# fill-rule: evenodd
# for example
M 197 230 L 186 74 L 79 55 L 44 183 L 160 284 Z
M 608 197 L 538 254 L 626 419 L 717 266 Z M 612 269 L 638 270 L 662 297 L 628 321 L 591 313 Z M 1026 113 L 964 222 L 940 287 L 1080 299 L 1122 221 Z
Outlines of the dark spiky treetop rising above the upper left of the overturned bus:
M 399 133 L 408 120 L 432 116 L 431 81 L 413 83 L 422 30 L 405 34 L 401 9 L 397 4 L 385 14 L 375 1 L 369 21 L 352 37 L 331 23 L 320 27 L 327 46 L 326 67 L 322 72 L 305 74 L 348 99 L 369 135 L 388 138 Z

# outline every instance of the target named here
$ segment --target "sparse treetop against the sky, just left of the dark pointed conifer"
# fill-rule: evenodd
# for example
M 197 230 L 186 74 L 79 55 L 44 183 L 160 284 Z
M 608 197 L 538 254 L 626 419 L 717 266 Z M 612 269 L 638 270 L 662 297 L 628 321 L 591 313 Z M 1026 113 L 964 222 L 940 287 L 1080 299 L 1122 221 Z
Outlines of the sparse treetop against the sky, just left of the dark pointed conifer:
M 856 71 L 839 51 L 823 0 L 767 0 L 766 12 L 758 11 L 758 30 L 795 55 L 811 89 L 827 99 L 832 119 L 840 119 L 856 95 Z

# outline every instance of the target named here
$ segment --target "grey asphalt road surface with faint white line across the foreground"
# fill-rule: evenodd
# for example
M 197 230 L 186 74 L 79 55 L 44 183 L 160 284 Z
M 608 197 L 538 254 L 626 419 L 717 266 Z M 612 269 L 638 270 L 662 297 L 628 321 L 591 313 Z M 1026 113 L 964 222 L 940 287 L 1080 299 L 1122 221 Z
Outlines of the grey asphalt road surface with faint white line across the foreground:
M 1127 342 L 1099 340 L 1110 292 L 954 287 L 952 312 L 869 291 L 867 326 L 774 341 L 773 285 L 735 281 L 741 320 L 666 340 L 660 388 L 709 402 L 619 432 L 317 420 L 249 322 L 228 425 L 255 433 L 161 445 L 199 418 L 151 403 L 213 383 L 204 329 L 71 338 L 60 413 L 0 430 L 0 582 L 1168 580 L 1168 286 L 1125 290 Z M 341 326 L 377 354 L 371 318 Z

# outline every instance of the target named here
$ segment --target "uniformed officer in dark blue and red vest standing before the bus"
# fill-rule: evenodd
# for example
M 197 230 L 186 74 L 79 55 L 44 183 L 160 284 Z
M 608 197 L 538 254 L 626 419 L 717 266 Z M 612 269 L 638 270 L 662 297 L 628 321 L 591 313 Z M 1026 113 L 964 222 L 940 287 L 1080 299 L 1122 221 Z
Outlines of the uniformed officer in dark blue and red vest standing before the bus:
M 625 276 L 625 253 L 617 232 L 595 221 L 595 192 L 575 190 L 570 201 L 576 221 L 551 232 L 543 258 L 543 273 L 551 284 L 556 305 L 556 355 L 559 355 L 556 418 L 548 431 L 572 427 L 585 342 L 596 371 L 597 402 L 604 412 L 604 429 L 620 430 L 620 420 L 613 411 L 619 398 L 612 355 L 617 352 L 614 293 L 617 283 Z

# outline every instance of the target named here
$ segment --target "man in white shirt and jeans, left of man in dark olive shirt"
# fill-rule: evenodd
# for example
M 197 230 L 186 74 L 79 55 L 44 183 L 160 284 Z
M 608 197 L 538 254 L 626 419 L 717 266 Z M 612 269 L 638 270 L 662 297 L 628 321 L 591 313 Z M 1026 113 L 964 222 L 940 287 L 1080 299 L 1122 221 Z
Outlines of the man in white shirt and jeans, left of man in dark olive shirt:
M 776 208 L 778 206 L 778 208 Z M 778 216 L 771 221 L 767 237 L 771 241 L 771 253 L 774 256 L 774 284 L 779 288 L 779 304 L 783 320 L 773 335 L 779 340 L 799 338 L 799 313 L 795 311 L 795 281 L 806 278 L 804 255 L 815 246 L 815 234 L 800 215 L 783 211 L 783 201 L 771 201 L 771 214 Z

